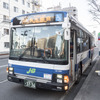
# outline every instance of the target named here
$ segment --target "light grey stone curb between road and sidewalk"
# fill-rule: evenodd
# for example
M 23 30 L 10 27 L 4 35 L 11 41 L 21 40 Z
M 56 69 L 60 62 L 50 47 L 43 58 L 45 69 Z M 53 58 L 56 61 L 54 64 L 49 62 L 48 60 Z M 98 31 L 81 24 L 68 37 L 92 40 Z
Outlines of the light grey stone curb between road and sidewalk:
M 89 83 L 91 77 L 92 77 L 92 74 L 93 72 L 95 71 L 95 68 L 96 68 L 96 65 L 98 64 L 98 61 L 99 61 L 99 57 L 97 58 L 97 61 L 95 63 L 95 65 L 93 66 L 91 72 L 89 73 L 88 77 L 86 78 L 85 82 L 83 83 L 81 89 L 79 90 L 78 94 L 76 95 L 76 97 L 74 98 L 74 100 L 82 100 L 82 98 L 84 97 L 84 93 L 87 89 L 87 84 Z

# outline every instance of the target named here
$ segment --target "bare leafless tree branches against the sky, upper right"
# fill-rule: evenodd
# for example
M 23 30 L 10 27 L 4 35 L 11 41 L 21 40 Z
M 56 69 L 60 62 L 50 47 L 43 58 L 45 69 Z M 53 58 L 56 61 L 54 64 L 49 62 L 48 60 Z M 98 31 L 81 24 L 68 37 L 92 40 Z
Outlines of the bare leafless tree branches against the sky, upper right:
M 93 15 L 93 20 L 100 24 L 100 0 L 88 0 L 90 10 L 89 12 Z

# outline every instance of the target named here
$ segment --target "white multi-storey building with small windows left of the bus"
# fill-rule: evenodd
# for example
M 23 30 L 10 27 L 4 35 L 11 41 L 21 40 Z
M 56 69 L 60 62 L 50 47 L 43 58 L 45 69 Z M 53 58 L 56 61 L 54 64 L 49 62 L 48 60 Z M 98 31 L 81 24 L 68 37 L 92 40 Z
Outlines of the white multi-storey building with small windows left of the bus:
M 33 0 L 0 0 L 0 52 L 9 51 L 10 20 L 15 16 L 34 12 L 35 6 L 37 7 Z

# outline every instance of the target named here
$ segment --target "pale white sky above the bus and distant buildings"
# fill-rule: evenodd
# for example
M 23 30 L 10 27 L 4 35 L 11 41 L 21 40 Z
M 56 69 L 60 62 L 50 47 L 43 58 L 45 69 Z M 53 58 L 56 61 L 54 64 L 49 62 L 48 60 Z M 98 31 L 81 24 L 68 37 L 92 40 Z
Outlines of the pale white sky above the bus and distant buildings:
M 42 0 L 43 9 L 59 5 L 61 3 L 61 7 L 69 7 L 69 5 L 76 7 L 78 10 L 78 20 L 79 22 L 90 32 L 96 31 L 96 33 L 100 32 L 100 25 L 93 21 L 92 15 L 89 13 L 89 5 L 88 0 Z

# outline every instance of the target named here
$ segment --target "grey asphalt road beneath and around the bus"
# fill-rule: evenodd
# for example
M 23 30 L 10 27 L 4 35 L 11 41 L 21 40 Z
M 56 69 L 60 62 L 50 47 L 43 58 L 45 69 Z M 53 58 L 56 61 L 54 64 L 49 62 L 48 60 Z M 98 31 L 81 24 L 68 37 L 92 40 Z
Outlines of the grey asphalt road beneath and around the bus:
M 93 64 L 95 64 L 95 62 L 96 61 L 94 61 Z M 7 63 L 7 58 L 0 59 L 0 100 L 73 100 L 93 66 L 87 69 L 80 83 L 74 85 L 69 92 L 56 92 L 45 89 L 34 90 L 7 81 Z

